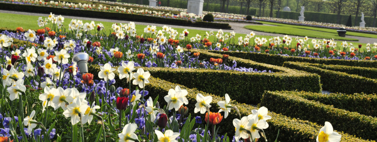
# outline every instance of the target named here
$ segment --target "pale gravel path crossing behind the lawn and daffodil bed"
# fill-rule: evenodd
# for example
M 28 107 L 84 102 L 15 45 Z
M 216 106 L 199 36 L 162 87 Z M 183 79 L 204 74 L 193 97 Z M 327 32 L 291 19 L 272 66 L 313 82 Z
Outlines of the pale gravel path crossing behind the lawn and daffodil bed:
M 48 16 L 49 14 L 42 14 L 42 13 L 30 13 L 30 12 L 20 12 L 20 11 L 8 11 L 8 10 L 0 10 L 0 13 L 11 13 L 11 14 L 21 14 L 21 15 L 32 15 L 32 16 Z M 77 17 L 77 16 L 67 16 L 62 15 L 65 18 L 71 18 L 71 19 L 80 19 L 80 20 L 91 20 L 91 21 L 104 21 L 104 22 L 111 22 L 111 23 L 129 23 L 130 21 L 125 20 L 112 20 L 112 19 L 98 19 L 98 18 L 88 18 L 88 17 Z M 232 26 L 232 29 L 225 29 L 224 32 L 232 32 L 235 31 L 236 33 L 242 33 L 242 34 L 249 34 L 253 30 L 249 30 L 244 28 L 245 25 L 259 25 L 259 24 L 248 24 L 248 23 L 232 23 L 232 22 L 226 22 L 229 23 Z M 207 30 L 207 31 L 217 31 L 216 28 L 203 28 L 203 27 L 194 27 L 194 26 L 182 26 L 182 25 L 171 25 L 171 24 L 158 24 L 158 23 L 145 23 L 145 22 L 135 22 L 135 24 L 141 24 L 141 25 L 155 25 L 155 26 L 170 26 L 173 28 L 185 28 L 185 29 L 197 29 L 197 30 Z M 274 25 L 271 25 L 274 26 Z M 275 34 L 275 33 L 266 33 L 266 32 L 259 32 L 254 31 L 256 35 L 265 35 L 265 36 L 280 36 L 283 37 L 283 34 Z M 296 37 L 296 36 L 293 36 Z M 348 38 L 358 39 L 358 43 L 371 43 L 377 42 L 377 39 L 375 38 L 365 38 L 365 37 L 356 37 L 356 36 L 346 36 Z

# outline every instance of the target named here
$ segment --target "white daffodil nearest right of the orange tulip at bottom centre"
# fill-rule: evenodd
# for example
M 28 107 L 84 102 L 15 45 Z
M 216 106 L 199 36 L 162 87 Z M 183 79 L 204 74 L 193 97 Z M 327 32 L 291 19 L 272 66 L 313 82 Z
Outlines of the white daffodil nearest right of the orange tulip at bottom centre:
M 249 135 L 245 131 L 251 128 L 251 125 L 249 123 L 249 118 L 243 117 L 241 118 L 241 120 L 237 118 L 233 119 L 233 126 L 236 127 L 236 134 L 235 134 L 236 141 L 238 141 L 239 138 L 242 138 L 242 139 L 249 138 Z

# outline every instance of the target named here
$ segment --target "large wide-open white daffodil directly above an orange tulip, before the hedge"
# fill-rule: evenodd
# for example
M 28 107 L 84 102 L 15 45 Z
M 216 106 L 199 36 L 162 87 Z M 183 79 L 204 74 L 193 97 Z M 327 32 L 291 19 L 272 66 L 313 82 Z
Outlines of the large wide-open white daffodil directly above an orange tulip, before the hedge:
M 181 89 L 178 85 L 175 87 L 175 90 L 169 89 L 169 92 L 164 97 L 167 103 L 170 102 L 168 110 L 174 108 L 175 111 L 178 111 L 183 104 L 188 104 L 186 95 L 188 95 L 187 90 Z

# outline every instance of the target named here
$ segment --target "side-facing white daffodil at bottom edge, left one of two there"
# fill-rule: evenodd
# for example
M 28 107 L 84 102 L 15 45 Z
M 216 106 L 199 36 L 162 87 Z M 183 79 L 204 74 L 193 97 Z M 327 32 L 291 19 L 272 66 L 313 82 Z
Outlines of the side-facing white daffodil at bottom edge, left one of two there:
M 119 142 L 134 142 L 131 139 L 138 140 L 138 136 L 135 134 L 135 130 L 138 128 L 138 125 L 135 123 L 129 123 L 123 127 L 121 133 L 118 134 Z

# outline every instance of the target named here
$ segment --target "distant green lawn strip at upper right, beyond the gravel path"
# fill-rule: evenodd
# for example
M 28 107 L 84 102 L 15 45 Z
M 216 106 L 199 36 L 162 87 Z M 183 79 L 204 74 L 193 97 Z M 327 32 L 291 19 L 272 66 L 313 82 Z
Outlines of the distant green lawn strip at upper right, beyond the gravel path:
M 323 32 L 330 32 L 330 33 L 335 33 L 337 35 L 336 29 L 310 27 L 310 26 L 301 26 L 301 25 L 291 25 L 291 24 L 278 24 L 278 23 L 270 23 L 270 22 L 261 22 L 261 23 L 263 23 L 263 24 L 271 24 L 271 25 L 278 25 L 278 26 L 287 26 L 287 27 L 293 27 L 293 28 L 316 30 L 316 31 L 323 31 Z M 377 38 L 376 34 L 359 33 L 359 32 L 352 32 L 352 31 L 347 31 L 347 35 L 350 35 L 350 36 L 359 36 L 359 37 L 367 37 L 367 38 Z

